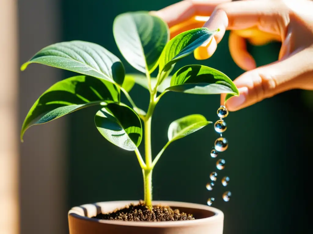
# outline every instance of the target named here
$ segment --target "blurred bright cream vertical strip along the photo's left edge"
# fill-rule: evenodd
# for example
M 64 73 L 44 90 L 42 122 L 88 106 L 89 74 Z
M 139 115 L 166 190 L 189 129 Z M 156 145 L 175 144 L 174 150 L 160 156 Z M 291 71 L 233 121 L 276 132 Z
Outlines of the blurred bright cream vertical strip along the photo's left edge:
M 0 233 L 18 234 L 17 2 L 0 1 Z

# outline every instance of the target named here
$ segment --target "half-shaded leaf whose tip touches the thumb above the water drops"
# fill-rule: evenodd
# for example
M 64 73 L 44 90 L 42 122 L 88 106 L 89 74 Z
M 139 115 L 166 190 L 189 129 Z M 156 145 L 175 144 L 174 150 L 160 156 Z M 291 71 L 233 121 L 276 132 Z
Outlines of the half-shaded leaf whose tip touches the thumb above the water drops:
M 188 65 L 179 69 L 167 90 L 191 94 L 238 95 L 233 81 L 224 73 L 202 65 Z

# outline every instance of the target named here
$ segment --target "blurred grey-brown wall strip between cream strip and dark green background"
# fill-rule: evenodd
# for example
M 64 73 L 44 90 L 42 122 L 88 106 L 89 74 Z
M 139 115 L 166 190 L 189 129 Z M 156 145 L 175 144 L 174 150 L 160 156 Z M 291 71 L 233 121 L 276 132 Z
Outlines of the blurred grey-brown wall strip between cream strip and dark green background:
M 40 49 L 60 41 L 62 22 L 56 0 L 18 0 L 18 11 L 20 58 L 15 71 Z M 61 79 L 60 70 L 38 64 L 20 72 L 18 131 L 37 98 Z M 21 234 L 67 233 L 64 121 L 31 127 L 19 143 Z

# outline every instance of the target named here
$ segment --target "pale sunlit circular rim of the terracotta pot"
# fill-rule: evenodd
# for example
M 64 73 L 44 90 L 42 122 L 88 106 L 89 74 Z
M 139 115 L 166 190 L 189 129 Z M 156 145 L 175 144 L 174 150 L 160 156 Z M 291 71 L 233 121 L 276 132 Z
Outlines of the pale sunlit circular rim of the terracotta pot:
M 195 220 L 184 220 L 184 221 L 163 221 L 163 222 L 132 222 L 132 221 L 123 221 L 123 220 L 103 220 L 103 219 L 96 219 L 96 218 L 90 218 L 88 217 L 88 211 L 91 211 L 94 213 L 93 215 L 89 216 L 95 216 L 97 213 L 97 207 L 105 207 L 105 205 L 111 205 L 114 206 L 116 204 L 115 208 L 119 208 L 121 206 L 129 205 L 131 203 L 137 203 L 138 201 L 108 201 L 108 202 L 96 202 L 92 204 L 84 204 L 78 207 L 73 207 L 69 210 L 68 215 L 72 216 L 73 218 L 83 219 L 88 222 L 98 222 L 98 223 L 104 223 L 104 224 L 112 224 L 112 225 L 123 225 L 123 226 L 141 226 L 141 227 L 179 227 L 179 226 L 193 226 L 193 225 L 199 225 L 200 223 L 207 223 L 207 222 L 219 222 L 219 220 L 224 217 L 224 214 L 221 210 L 210 207 L 207 205 L 201 205 L 196 203 L 189 203 L 189 202 L 173 202 L 173 201 L 153 201 L 152 205 L 167 205 L 171 207 L 178 207 L 180 208 L 194 208 L 194 209 L 202 209 L 211 211 L 214 213 L 213 216 L 207 217 L 207 218 L 201 218 L 201 219 L 195 219 Z M 122 207 L 121 207 L 122 208 Z M 108 211 L 106 211 L 108 212 Z

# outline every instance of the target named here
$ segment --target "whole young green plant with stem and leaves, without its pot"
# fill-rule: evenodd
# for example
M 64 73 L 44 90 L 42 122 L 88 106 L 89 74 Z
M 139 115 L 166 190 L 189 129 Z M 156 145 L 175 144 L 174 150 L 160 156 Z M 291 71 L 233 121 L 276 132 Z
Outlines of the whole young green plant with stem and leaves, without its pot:
M 100 45 L 85 41 L 60 42 L 36 53 L 30 63 L 39 63 L 81 75 L 61 80 L 46 90 L 29 110 L 21 130 L 21 140 L 32 125 L 47 123 L 89 106 L 98 106 L 95 125 L 105 139 L 125 150 L 135 151 L 142 169 L 144 200 L 152 205 L 152 171 L 164 150 L 212 122 L 203 115 L 188 115 L 172 122 L 168 142 L 153 158 L 151 119 L 160 98 L 167 92 L 238 95 L 233 82 L 220 71 L 202 65 L 184 66 L 169 76 L 177 61 L 207 43 L 216 31 L 197 28 L 169 41 L 169 29 L 162 19 L 148 12 L 124 13 L 115 18 L 113 34 L 124 58 L 143 74 L 125 74 L 115 55 Z M 151 73 L 158 67 L 158 75 Z M 147 111 L 139 109 L 129 95 L 134 84 L 149 91 Z M 123 93 L 130 105 L 121 103 Z M 143 122 L 143 126 L 142 126 Z M 144 129 L 145 153 L 138 150 Z M 152 160 L 153 159 L 153 160 Z

